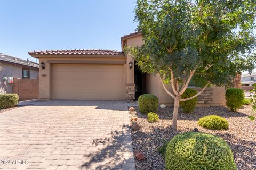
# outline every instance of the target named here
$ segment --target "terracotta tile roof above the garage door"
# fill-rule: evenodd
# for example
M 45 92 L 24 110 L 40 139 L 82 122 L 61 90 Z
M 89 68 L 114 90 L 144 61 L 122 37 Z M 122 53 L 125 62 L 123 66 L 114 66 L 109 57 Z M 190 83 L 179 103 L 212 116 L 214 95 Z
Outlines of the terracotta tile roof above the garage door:
M 45 50 L 28 52 L 29 55 L 123 55 L 123 52 L 103 49 Z

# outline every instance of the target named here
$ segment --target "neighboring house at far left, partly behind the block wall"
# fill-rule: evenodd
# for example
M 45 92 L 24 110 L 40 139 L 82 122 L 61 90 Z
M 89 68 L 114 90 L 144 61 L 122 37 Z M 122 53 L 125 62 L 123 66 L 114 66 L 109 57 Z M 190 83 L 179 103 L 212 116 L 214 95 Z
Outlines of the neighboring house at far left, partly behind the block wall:
M 0 94 L 12 93 L 13 84 L 4 85 L 3 77 L 20 79 L 36 79 L 38 76 L 38 63 L 22 60 L 0 53 Z

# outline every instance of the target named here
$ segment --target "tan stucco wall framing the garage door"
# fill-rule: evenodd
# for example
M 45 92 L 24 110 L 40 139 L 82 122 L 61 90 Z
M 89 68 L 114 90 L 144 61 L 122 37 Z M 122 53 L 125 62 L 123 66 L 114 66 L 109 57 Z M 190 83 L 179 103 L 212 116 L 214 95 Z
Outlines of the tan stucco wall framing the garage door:
M 124 61 L 124 57 L 108 57 L 108 56 L 77 56 L 77 55 L 47 55 L 47 56 L 38 56 L 39 63 L 44 62 L 45 69 L 39 68 L 39 99 L 40 100 L 50 100 L 52 98 L 51 94 L 51 75 L 52 75 L 52 65 L 47 63 L 47 61 Z M 79 64 L 78 64 L 79 65 Z M 124 71 L 126 71 L 126 64 L 124 65 Z M 68 76 L 68 75 L 67 75 Z M 126 84 L 126 80 L 124 80 L 124 84 Z M 124 87 L 125 89 L 125 87 Z M 123 92 L 123 96 L 125 96 L 125 91 Z

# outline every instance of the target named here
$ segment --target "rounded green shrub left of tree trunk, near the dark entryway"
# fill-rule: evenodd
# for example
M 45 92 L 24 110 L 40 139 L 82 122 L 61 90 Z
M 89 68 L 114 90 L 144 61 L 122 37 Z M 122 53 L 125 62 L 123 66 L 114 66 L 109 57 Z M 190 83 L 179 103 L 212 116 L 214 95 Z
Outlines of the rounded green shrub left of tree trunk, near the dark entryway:
M 155 95 L 144 94 L 138 99 L 139 111 L 141 113 L 156 112 L 158 106 L 158 99 Z

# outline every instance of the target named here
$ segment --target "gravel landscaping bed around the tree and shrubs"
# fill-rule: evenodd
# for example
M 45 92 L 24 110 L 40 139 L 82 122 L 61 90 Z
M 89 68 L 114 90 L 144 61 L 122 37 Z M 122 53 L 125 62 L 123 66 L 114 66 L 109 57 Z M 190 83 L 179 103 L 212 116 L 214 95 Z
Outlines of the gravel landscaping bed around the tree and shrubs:
M 164 158 L 157 150 L 163 145 L 163 139 L 170 140 L 174 135 L 194 131 L 194 128 L 224 139 L 233 150 L 237 169 L 256 169 L 256 121 L 247 117 L 256 115 L 251 106 L 243 106 L 238 112 L 229 112 L 225 107 L 197 107 L 194 113 L 187 114 L 179 109 L 177 131 L 171 128 L 173 107 L 158 108 L 159 121 L 156 123 L 149 123 L 147 115 L 141 114 L 138 107 L 135 109 L 130 114 L 138 116 L 139 130 L 132 131 L 133 150 L 145 156 L 145 159 L 135 161 L 137 169 L 164 169 Z M 207 115 L 225 117 L 229 129 L 215 131 L 198 126 L 198 119 Z

